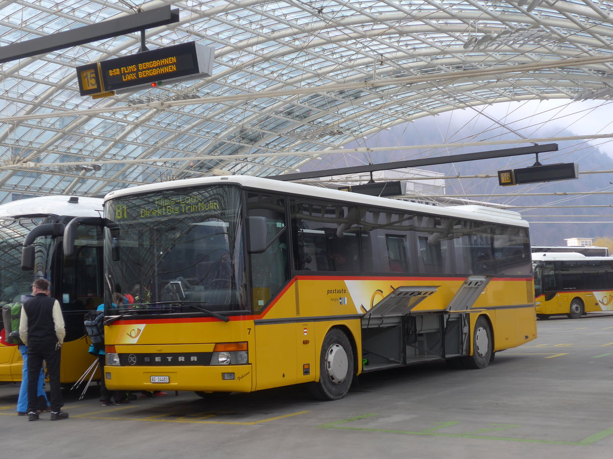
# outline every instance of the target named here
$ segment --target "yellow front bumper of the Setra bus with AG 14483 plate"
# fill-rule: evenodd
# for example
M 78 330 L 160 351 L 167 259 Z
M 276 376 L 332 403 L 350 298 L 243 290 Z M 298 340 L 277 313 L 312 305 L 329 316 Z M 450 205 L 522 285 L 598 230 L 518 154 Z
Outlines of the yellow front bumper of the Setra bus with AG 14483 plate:
M 105 384 L 111 390 L 196 390 L 203 392 L 251 392 L 251 365 L 104 367 Z

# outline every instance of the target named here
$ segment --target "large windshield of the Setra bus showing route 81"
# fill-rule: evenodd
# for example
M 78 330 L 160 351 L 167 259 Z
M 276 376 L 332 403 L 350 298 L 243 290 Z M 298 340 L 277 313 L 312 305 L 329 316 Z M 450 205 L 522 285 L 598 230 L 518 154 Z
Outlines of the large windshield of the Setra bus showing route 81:
M 107 288 L 124 296 L 107 315 L 244 312 L 240 188 L 158 190 L 105 211 L 116 223 L 105 229 Z

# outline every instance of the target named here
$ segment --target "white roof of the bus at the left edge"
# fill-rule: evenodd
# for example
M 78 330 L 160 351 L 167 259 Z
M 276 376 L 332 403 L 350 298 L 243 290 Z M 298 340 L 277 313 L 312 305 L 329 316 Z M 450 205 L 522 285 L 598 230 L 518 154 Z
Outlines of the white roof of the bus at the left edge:
M 72 200 L 71 200 L 72 198 Z M 77 200 L 78 201 L 75 201 Z M 70 217 L 102 217 L 104 200 L 79 196 L 39 196 L 0 204 L 0 218 L 29 215 L 68 215 Z

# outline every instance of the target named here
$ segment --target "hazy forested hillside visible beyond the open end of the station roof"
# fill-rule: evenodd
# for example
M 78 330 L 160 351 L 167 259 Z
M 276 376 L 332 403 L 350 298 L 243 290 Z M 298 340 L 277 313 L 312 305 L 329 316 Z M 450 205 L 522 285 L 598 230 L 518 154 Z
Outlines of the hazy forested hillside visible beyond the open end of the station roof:
M 307 168 L 333 168 L 371 163 L 385 163 L 390 161 L 417 159 L 425 156 L 455 155 L 469 152 L 489 151 L 529 144 L 507 144 L 496 146 L 471 146 L 460 149 L 446 149 L 437 147 L 428 151 L 378 151 L 368 155 L 350 152 L 351 147 L 384 147 L 400 145 L 430 145 L 439 143 L 463 143 L 474 141 L 474 133 L 479 132 L 477 140 L 490 138 L 512 138 L 517 135 L 508 133 L 500 135 L 502 128 L 490 129 L 488 125 L 472 124 L 457 125 L 460 121 L 453 121 L 445 116 L 424 118 L 408 125 L 398 126 L 391 130 L 384 130 L 379 135 L 367 140 L 360 139 L 356 143 L 346 146 L 347 154 L 339 155 L 332 161 L 319 161 L 310 163 Z M 489 130 L 490 129 L 490 130 Z M 577 135 L 572 130 L 560 130 L 558 126 L 541 129 L 530 134 L 532 138 L 547 136 Z M 609 155 L 599 151 L 584 141 L 547 141 L 544 143 L 558 143 L 558 151 L 539 155 L 543 164 L 576 162 L 579 171 L 613 170 L 613 161 Z M 443 172 L 448 176 L 466 176 L 475 174 L 496 174 L 498 170 L 508 168 L 522 168 L 532 166 L 535 155 L 524 155 L 506 159 L 483 160 L 479 162 L 460 162 L 443 166 L 422 167 L 432 171 Z M 305 170 L 307 169 L 305 168 Z M 517 209 L 525 215 L 531 224 L 531 238 L 533 245 L 566 245 L 565 239 L 569 237 L 599 237 L 613 236 L 613 207 L 543 207 L 544 204 L 557 206 L 579 205 L 606 205 L 613 206 L 613 195 L 595 194 L 595 192 L 613 190 L 613 176 L 608 173 L 581 174 L 579 179 L 549 182 L 529 185 L 515 185 L 500 187 L 497 178 L 490 179 L 449 179 L 446 193 L 450 195 L 473 195 L 486 193 L 485 196 L 471 196 L 473 200 L 485 200 L 495 203 L 512 204 L 517 206 L 535 206 L 535 209 Z M 588 192 L 585 196 L 530 196 L 523 193 L 562 193 L 562 192 Z M 521 196 L 495 197 L 493 194 L 522 193 Z M 578 215 L 579 217 L 572 217 Z M 599 222 L 599 223 L 549 223 L 549 222 Z M 548 223 L 538 223 L 548 222 Z M 600 223 L 601 222 L 601 223 Z

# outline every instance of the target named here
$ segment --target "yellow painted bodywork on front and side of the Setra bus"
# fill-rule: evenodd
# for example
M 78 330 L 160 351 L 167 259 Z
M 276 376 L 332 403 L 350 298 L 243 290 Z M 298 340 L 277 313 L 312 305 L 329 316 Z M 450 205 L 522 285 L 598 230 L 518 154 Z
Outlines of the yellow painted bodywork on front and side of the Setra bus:
M 481 315 L 492 324 L 495 351 L 536 338 L 530 283 L 531 280 L 492 280 L 467 312 L 471 330 Z M 359 374 L 362 371 L 360 319 L 364 311 L 399 286 L 436 286 L 436 293 L 411 313 L 443 312 L 462 284 L 462 279 L 455 278 L 303 277 L 294 279 L 259 316 L 231 317 L 229 322 L 202 317 L 183 321 L 162 318 L 158 322 L 145 322 L 137 317 L 120 319 L 105 327 L 106 344 L 115 346 L 119 354 L 211 353 L 216 343 L 246 342 L 248 364 L 107 366 L 105 372 L 111 378 L 105 381 L 112 390 L 213 392 L 251 392 L 318 381 L 322 342 L 332 327 L 344 330 L 352 341 Z M 298 300 L 296 292 L 299 292 Z M 235 379 L 222 379 L 223 373 L 234 373 Z M 169 376 L 169 383 L 151 383 L 151 376 Z

